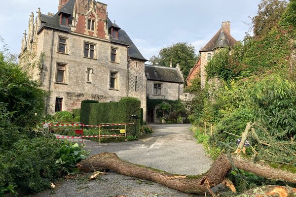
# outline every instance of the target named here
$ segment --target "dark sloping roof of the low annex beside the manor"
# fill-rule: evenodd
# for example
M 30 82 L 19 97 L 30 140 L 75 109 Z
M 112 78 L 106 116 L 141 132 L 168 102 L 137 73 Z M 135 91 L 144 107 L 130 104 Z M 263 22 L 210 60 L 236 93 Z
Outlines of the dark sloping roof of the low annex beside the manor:
M 184 83 L 184 79 L 177 68 L 145 65 L 145 75 L 148 80 Z

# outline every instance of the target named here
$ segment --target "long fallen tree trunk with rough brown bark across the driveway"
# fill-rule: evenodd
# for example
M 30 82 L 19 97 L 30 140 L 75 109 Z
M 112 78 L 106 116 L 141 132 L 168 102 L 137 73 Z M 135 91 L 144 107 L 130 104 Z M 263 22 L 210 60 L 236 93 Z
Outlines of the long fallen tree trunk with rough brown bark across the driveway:
M 151 167 L 131 164 L 120 160 L 116 154 L 106 152 L 83 160 L 77 166 L 84 172 L 110 169 L 127 176 L 157 182 L 181 192 L 201 194 L 208 190 L 211 192 L 210 188 L 223 183 L 232 164 L 266 178 L 296 183 L 295 173 L 275 169 L 266 164 L 254 164 L 239 156 L 229 159 L 226 155 L 221 155 L 208 172 L 196 176 L 170 174 Z

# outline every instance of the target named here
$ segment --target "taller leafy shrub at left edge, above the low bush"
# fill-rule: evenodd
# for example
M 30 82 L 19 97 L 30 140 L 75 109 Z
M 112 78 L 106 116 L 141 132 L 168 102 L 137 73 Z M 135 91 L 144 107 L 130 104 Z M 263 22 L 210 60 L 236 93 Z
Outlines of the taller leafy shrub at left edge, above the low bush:
M 18 65 L 6 62 L 0 53 L 0 103 L 6 103 L 6 110 L 12 115 L 10 120 L 20 127 L 40 122 L 45 94 L 38 85 Z

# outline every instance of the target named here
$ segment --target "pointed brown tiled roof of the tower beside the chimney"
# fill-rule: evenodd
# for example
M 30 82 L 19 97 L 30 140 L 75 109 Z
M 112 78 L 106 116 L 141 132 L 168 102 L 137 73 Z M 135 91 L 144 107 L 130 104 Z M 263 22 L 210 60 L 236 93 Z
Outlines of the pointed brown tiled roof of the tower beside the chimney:
M 221 28 L 199 52 L 214 51 L 217 48 L 233 46 L 235 42 L 237 41 Z

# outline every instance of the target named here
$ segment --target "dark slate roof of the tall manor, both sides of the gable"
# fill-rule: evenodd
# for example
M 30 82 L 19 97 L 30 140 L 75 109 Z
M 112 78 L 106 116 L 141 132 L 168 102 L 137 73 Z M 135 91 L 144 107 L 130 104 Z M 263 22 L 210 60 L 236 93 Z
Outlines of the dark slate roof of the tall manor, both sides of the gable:
M 53 16 L 48 16 L 45 14 L 41 14 L 41 22 L 42 25 L 40 27 L 39 30 L 41 30 L 44 27 L 47 28 L 51 28 L 51 29 L 55 29 L 55 30 L 59 30 L 59 31 L 63 31 L 63 32 L 71 32 L 71 28 L 70 27 L 66 27 L 63 25 L 60 25 L 60 16 L 59 14 L 61 12 L 66 13 L 71 15 L 71 17 L 69 18 L 69 24 L 72 24 L 72 19 L 73 19 L 73 11 L 74 11 L 74 5 L 75 5 L 75 1 L 76 0 L 69 0 L 66 5 L 64 7 L 62 7 L 55 15 Z M 111 27 L 116 27 L 119 28 L 115 23 L 113 24 L 111 22 L 111 20 L 108 18 L 108 28 Z M 120 29 L 120 28 L 119 28 Z M 39 32 L 38 30 L 38 32 Z M 118 31 L 118 39 L 113 39 L 111 38 L 111 42 L 113 43 L 117 43 L 117 44 L 122 44 L 122 45 L 126 45 L 126 46 L 130 46 L 128 48 L 128 54 L 130 58 L 133 59 L 138 59 L 138 60 L 143 60 L 143 61 L 148 61 L 146 60 L 143 55 L 141 54 L 141 52 L 139 51 L 139 49 L 136 47 L 136 45 L 134 44 L 134 42 L 131 40 L 131 38 L 127 35 L 127 33 L 120 29 Z

